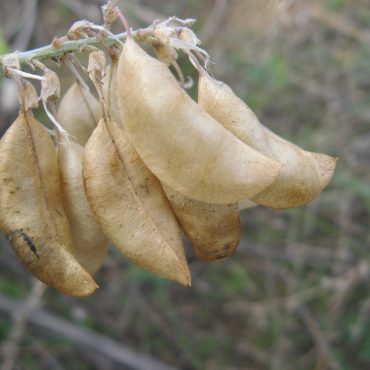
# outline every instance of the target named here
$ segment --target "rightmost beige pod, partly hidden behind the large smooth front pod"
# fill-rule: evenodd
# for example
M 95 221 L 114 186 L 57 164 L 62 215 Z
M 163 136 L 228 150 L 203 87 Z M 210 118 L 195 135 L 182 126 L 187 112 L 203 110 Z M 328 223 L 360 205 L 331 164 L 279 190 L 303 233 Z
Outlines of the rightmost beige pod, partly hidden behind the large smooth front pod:
M 314 199 L 329 183 L 336 158 L 305 151 L 264 127 L 252 110 L 226 84 L 202 75 L 199 104 L 247 145 L 283 164 L 267 189 L 250 197 L 272 208 L 299 207 Z

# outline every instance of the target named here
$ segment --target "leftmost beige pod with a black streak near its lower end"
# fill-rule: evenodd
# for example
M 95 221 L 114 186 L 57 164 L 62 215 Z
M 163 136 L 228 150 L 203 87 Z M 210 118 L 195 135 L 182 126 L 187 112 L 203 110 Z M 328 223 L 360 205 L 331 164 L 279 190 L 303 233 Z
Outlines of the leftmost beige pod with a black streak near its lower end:
M 31 112 L 2 139 L 0 184 L 0 226 L 23 264 L 62 293 L 93 293 L 97 285 L 73 257 L 55 147 Z

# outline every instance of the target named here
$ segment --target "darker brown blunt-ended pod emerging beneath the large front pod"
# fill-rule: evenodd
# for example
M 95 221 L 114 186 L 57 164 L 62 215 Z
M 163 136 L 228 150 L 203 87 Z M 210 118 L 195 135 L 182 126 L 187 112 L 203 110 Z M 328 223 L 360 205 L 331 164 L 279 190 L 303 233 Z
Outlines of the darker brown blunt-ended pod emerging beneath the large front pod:
M 163 189 L 197 258 L 213 261 L 234 253 L 240 241 L 237 203 L 204 203 L 168 186 L 164 185 Z

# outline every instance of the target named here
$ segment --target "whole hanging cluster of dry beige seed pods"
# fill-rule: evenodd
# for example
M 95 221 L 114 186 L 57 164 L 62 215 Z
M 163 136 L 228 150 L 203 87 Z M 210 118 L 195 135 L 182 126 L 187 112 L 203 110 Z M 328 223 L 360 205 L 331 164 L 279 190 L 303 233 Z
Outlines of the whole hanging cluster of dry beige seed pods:
M 190 285 L 182 233 L 197 258 L 228 257 L 242 203 L 299 207 L 333 176 L 335 158 L 264 127 L 203 68 L 195 102 L 159 59 L 128 35 L 118 58 L 89 67 L 100 102 L 79 82 L 63 96 L 68 138 L 53 140 L 23 105 L 0 141 L 0 227 L 32 274 L 65 294 L 94 292 L 109 241 Z

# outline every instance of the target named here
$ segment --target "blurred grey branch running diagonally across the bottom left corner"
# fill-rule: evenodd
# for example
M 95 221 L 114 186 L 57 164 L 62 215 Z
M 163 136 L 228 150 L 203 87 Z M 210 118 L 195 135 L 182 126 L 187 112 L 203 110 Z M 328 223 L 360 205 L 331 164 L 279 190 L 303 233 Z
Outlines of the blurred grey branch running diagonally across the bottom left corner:
M 14 311 L 17 311 L 20 305 L 22 305 L 20 301 L 0 295 L 0 311 L 11 315 Z M 70 340 L 79 347 L 108 358 L 115 364 L 126 366 L 131 370 L 176 370 L 176 368 L 163 364 L 148 355 L 136 353 L 103 335 L 79 328 L 45 310 L 33 311 L 28 317 L 28 321 L 30 324 L 43 329 L 48 335 Z

